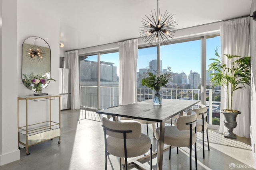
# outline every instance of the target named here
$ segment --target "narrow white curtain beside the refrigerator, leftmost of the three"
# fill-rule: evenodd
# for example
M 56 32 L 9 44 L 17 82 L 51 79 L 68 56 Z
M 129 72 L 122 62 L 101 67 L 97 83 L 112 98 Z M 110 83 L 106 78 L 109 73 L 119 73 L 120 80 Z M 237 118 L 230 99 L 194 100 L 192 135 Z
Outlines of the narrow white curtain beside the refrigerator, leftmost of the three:
M 65 52 L 67 68 L 70 68 L 71 109 L 80 109 L 79 97 L 79 58 L 78 50 Z

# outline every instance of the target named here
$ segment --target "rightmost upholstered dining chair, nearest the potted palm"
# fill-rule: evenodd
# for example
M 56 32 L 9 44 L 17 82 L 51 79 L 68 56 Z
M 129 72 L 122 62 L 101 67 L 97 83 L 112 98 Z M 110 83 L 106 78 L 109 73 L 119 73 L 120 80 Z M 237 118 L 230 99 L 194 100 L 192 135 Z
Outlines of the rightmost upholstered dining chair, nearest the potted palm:
M 208 150 L 210 151 L 209 138 L 208 138 L 208 122 L 207 122 L 207 107 L 200 104 L 198 108 L 193 109 L 197 115 L 196 131 L 203 133 L 203 158 L 204 158 L 204 131 L 207 135 Z

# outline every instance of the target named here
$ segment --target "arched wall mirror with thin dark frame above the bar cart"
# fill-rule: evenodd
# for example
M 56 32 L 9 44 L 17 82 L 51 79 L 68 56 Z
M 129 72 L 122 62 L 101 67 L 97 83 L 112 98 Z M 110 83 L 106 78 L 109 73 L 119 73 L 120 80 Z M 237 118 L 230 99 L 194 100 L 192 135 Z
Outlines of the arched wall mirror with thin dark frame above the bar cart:
M 51 72 L 51 49 L 49 44 L 40 37 L 28 37 L 22 44 L 22 82 L 33 90 L 33 82 L 38 79 L 45 79 L 40 82 L 42 88 L 50 82 Z

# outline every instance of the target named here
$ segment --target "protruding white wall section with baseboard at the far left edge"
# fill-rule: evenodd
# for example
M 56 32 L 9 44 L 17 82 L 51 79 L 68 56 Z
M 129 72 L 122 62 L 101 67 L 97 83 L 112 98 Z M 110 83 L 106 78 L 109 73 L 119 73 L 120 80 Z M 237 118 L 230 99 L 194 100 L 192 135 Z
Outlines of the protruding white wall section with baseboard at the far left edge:
M 20 159 L 17 146 L 17 0 L 1 0 L 0 165 Z

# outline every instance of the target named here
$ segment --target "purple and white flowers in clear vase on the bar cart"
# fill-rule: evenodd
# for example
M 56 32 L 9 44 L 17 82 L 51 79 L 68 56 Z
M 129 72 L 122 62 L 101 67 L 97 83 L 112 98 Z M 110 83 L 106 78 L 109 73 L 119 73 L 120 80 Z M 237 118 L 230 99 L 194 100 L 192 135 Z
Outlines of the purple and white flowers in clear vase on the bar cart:
M 23 83 L 26 87 L 33 90 L 34 93 L 42 93 L 43 85 L 48 83 L 50 80 L 56 82 L 54 78 L 48 78 L 47 75 L 34 75 L 33 72 L 29 76 L 23 74 Z

